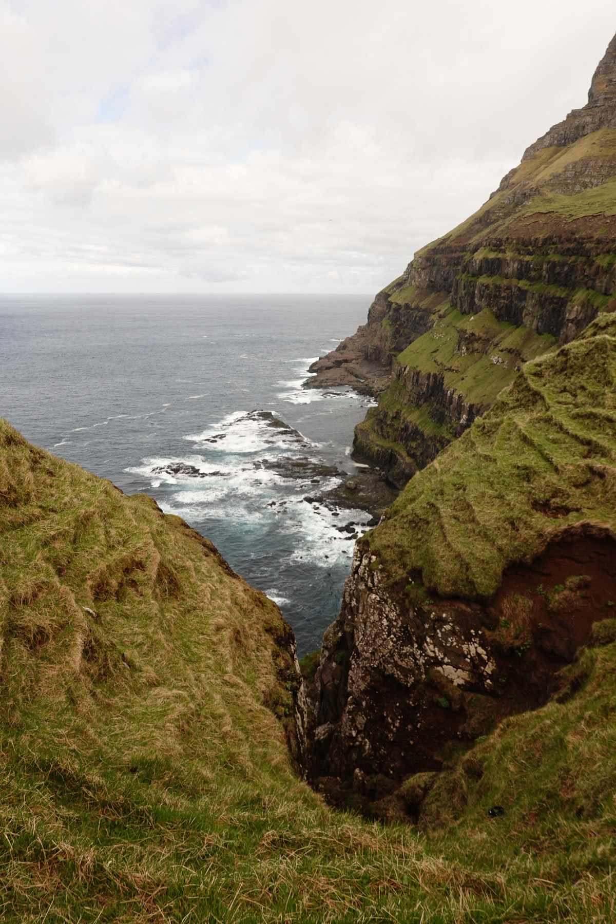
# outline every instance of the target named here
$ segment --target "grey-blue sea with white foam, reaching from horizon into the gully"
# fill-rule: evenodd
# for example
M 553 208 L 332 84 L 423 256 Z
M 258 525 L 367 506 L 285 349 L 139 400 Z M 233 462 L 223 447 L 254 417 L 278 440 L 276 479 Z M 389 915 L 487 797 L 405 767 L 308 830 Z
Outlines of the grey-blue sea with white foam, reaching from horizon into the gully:
M 0 415 L 199 529 L 278 603 L 301 657 L 340 606 L 344 527 L 361 534 L 369 520 L 311 495 L 356 471 L 353 428 L 371 403 L 302 383 L 369 300 L 2 296 Z

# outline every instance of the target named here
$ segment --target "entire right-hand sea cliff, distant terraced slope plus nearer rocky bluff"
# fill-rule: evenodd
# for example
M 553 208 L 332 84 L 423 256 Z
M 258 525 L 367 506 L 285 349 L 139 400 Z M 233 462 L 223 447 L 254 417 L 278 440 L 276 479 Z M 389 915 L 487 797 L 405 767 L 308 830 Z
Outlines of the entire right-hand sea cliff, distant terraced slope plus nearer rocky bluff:
M 465 751 L 570 699 L 613 622 L 616 38 L 588 100 L 338 347 L 389 369 L 356 455 L 408 482 L 356 543 L 311 693 L 315 785 L 373 817 L 447 814 Z

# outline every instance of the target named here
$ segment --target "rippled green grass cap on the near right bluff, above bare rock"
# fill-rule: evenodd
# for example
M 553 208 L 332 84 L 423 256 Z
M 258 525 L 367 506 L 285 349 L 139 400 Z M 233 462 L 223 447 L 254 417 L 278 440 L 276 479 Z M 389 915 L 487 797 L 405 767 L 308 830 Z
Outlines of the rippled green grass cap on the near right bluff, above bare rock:
M 503 569 L 585 521 L 616 528 L 616 320 L 528 362 L 368 533 L 395 579 L 488 599 Z

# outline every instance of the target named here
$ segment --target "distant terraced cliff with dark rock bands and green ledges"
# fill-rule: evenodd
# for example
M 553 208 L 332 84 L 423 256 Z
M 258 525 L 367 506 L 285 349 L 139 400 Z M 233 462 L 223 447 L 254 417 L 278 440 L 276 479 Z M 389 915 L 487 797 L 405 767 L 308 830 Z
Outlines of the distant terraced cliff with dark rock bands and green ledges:
M 312 367 L 311 387 L 338 370 L 380 395 L 356 428 L 356 455 L 396 486 L 485 413 L 525 362 L 616 308 L 615 88 L 616 39 L 586 106 L 531 145 L 477 213 L 420 250 L 368 323 Z

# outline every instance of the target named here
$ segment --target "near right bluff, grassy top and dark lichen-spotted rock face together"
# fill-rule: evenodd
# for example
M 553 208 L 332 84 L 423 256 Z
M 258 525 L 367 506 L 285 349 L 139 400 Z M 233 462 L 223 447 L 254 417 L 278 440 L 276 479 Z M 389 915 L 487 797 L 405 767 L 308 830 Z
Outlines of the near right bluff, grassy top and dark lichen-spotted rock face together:
M 324 791 L 378 814 L 502 719 L 570 695 L 562 670 L 616 605 L 615 510 L 602 314 L 526 363 L 357 542 L 316 677 Z

